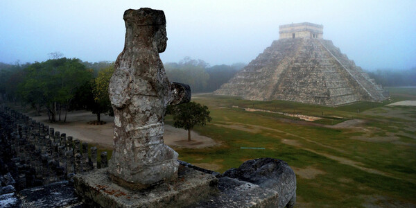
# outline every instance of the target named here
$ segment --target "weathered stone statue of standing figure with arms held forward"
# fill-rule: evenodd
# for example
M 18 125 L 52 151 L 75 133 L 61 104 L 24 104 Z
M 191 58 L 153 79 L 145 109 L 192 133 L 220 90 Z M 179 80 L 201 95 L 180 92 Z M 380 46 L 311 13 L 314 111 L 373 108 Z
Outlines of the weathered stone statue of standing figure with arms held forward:
M 177 177 L 177 153 L 163 142 L 167 105 L 191 100 L 189 85 L 169 83 L 159 53 L 166 49 L 162 10 L 126 10 L 125 45 L 110 80 L 114 110 L 114 150 L 109 162 L 114 182 L 143 189 Z

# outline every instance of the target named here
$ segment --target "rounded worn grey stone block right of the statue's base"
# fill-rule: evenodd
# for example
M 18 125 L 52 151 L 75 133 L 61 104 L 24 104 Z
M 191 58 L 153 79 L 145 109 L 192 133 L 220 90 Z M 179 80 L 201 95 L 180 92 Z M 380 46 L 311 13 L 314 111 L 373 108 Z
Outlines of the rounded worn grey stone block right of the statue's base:
M 293 207 L 296 176 L 279 159 L 252 159 L 220 175 L 218 190 L 191 207 Z

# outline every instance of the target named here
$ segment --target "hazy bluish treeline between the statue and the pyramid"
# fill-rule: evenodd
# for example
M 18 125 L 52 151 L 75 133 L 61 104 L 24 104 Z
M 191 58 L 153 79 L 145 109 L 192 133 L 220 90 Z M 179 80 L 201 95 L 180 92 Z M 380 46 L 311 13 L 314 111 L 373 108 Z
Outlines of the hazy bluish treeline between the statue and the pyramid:
M 191 92 L 214 92 L 243 69 L 245 64 L 222 64 L 210 67 L 203 60 L 187 57 L 180 62 L 165 63 L 164 67 L 171 82 L 188 84 Z

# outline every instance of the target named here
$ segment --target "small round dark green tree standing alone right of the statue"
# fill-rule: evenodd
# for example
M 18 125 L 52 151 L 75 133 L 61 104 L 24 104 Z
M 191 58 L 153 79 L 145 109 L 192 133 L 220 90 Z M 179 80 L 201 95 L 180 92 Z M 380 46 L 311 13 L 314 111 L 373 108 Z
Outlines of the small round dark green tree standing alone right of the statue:
M 173 115 L 175 128 L 188 130 L 188 141 L 191 141 L 191 130 L 194 125 L 203 126 L 212 119 L 208 107 L 195 102 L 169 105 L 166 113 Z

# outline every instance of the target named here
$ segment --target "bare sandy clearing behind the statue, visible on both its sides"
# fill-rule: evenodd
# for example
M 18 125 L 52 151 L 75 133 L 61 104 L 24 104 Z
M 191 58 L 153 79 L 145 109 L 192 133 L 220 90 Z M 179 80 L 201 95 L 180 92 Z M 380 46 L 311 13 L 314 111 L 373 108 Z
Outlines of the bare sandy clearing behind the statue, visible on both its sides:
M 88 121 L 96 120 L 96 116 L 87 111 L 69 112 L 67 122 L 49 123 L 48 116 L 31 116 L 36 121 L 40 121 L 55 132 L 65 133 L 74 139 L 80 139 L 89 143 L 98 144 L 105 148 L 113 146 L 114 117 L 101 116 L 101 120 L 107 122 L 104 125 L 91 125 Z M 209 137 L 198 135 L 191 131 L 191 141 L 187 141 L 187 130 L 174 128 L 171 125 L 164 126 L 164 143 L 176 148 L 206 148 L 216 146 L 218 143 Z

